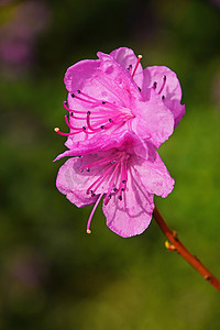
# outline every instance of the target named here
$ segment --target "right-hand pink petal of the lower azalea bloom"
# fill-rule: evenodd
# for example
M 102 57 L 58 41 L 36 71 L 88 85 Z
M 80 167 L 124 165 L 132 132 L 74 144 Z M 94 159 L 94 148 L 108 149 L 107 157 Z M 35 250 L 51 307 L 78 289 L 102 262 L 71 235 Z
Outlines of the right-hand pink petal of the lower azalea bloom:
M 133 157 L 132 165 L 144 188 L 150 194 L 167 197 L 174 188 L 174 179 L 153 145 L 148 143 L 148 158 Z

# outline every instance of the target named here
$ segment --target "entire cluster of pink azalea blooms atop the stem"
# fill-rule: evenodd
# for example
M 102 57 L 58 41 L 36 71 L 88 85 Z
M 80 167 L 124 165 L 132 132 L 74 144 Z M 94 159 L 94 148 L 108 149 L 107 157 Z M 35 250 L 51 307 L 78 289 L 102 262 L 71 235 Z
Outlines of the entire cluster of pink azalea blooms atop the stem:
M 151 222 L 154 194 L 166 197 L 174 187 L 156 148 L 185 113 L 182 88 L 169 68 L 141 65 L 141 55 L 118 48 L 81 61 L 65 75 L 63 103 L 70 158 L 57 175 L 57 188 L 77 207 L 103 199 L 107 226 L 121 237 L 142 233 Z

